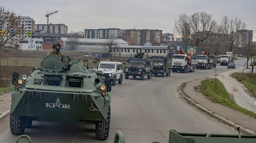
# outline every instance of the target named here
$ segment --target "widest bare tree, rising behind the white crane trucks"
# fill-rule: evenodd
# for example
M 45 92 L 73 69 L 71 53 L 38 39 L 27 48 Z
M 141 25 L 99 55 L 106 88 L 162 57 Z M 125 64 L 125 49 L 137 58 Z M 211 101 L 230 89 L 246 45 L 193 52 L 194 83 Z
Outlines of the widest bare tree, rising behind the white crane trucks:
M 175 37 L 181 37 L 183 45 L 199 46 L 207 39 L 213 39 L 218 33 L 218 23 L 212 14 L 197 12 L 192 15 L 180 14 L 175 20 L 173 32 Z M 200 49 L 201 50 L 201 49 Z

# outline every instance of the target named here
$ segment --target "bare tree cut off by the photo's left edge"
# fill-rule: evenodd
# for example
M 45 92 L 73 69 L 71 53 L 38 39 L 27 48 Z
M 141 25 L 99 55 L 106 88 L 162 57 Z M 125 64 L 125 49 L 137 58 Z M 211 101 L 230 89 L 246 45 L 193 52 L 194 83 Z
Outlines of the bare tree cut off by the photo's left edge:
M 20 16 L 0 6 L 0 65 L 1 59 L 14 52 L 20 52 L 21 41 L 26 40 L 24 25 L 20 23 Z M 2 83 L 0 66 L 0 87 Z

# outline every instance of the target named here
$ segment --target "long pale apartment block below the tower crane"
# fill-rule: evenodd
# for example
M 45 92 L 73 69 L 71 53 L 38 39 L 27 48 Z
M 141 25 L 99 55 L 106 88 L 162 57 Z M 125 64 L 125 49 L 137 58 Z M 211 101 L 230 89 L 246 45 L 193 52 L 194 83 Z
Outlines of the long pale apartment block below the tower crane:
M 47 32 L 47 24 L 35 24 L 35 30 Z M 63 23 L 61 24 L 49 23 L 49 32 L 52 34 L 67 34 L 67 26 Z

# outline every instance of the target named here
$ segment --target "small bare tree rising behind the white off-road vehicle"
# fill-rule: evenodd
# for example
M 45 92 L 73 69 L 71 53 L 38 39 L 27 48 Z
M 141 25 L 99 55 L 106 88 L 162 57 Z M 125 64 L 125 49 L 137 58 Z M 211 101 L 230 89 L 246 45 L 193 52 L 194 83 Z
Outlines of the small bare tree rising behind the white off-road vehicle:
M 112 61 L 112 55 L 117 53 L 118 43 L 116 41 L 116 36 L 114 34 L 108 35 L 108 39 L 102 46 L 104 51 L 108 52 L 110 61 Z

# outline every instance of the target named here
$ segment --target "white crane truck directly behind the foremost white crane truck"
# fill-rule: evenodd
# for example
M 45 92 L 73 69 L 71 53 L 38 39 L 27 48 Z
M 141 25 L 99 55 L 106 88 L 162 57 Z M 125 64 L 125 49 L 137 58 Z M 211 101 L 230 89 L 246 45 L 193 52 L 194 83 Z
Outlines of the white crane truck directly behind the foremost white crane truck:
M 205 51 L 202 55 L 197 55 L 198 66 L 197 69 L 212 69 L 216 68 L 218 63 L 217 56 L 211 56 L 209 52 Z

